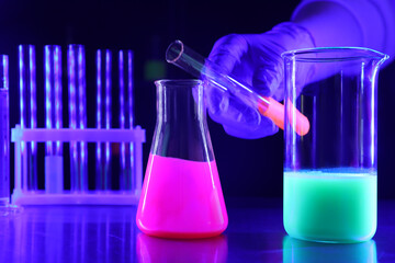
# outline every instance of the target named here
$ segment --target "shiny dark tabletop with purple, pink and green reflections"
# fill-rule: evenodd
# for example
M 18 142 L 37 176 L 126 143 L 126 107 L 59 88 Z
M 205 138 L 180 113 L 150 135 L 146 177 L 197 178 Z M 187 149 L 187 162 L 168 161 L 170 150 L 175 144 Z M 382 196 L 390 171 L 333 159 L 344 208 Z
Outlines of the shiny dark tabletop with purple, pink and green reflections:
M 131 206 L 30 206 L 0 218 L 0 262 L 395 262 L 395 201 L 379 202 L 373 240 L 305 242 L 286 236 L 282 201 L 226 198 L 229 226 L 201 240 L 142 233 Z

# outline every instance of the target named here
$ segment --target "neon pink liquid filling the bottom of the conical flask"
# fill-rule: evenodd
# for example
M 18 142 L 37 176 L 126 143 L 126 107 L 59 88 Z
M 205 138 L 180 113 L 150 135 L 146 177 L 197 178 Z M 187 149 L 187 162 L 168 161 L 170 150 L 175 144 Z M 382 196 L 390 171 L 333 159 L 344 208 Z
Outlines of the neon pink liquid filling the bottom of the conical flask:
M 151 236 L 206 238 L 228 224 L 215 161 L 149 156 L 136 222 Z

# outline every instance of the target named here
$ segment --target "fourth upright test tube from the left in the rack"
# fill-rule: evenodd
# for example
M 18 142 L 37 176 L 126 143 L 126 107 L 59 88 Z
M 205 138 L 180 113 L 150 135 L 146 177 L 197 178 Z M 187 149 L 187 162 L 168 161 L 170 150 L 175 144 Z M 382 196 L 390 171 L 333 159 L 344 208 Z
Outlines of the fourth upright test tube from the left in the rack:
M 97 128 L 111 128 L 111 50 L 97 52 Z M 97 190 L 111 190 L 110 142 L 97 144 Z

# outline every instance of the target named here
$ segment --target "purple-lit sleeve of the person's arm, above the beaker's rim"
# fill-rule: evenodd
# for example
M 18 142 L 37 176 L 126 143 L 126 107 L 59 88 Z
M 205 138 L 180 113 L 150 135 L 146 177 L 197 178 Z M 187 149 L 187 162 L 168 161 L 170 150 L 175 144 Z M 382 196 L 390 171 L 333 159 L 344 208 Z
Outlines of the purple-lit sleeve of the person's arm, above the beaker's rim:
M 312 34 L 317 47 L 359 46 L 395 55 L 394 0 L 305 0 L 291 20 Z

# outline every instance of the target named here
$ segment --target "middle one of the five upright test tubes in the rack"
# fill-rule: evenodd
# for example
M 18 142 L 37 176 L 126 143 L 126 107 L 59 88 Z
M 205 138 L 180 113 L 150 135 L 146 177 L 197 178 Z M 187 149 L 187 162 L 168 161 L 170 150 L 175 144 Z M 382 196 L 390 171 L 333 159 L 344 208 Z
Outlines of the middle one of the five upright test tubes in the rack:
M 87 127 L 86 57 L 82 45 L 69 45 L 67 50 L 69 127 Z M 88 191 L 88 148 L 84 141 L 70 141 L 70 190 Z

